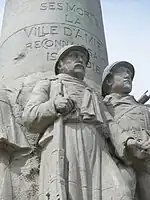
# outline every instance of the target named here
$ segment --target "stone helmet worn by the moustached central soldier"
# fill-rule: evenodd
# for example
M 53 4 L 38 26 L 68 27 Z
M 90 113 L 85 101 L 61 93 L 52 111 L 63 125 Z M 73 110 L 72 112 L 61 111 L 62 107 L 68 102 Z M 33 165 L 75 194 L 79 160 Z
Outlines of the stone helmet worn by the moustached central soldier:
M 59 70 L 58 70 L 59 61 L 61 59 L 63 59 L 70 51 L 81 51 L 81 52 L 85 53 L 85 55 L 87 57 L 86 64 L 88 64 L 90 55 L 89 55 L 88 50 L 84 46 L 80 46 L 80 45 L 64 46 L 57 54 L 57 58 L 56 58 L 56 62 L 55 62 L 55 74 L 56 75 L 59 74 Z

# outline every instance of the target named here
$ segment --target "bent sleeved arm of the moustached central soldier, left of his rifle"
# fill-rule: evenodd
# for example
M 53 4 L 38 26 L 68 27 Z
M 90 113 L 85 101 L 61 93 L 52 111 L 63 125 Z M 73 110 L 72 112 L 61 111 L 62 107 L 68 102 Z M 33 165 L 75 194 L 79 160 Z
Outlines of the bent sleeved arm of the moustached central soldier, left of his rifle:
M 34 87 L 23 112 L 23 121 L 28 131 L 43 133 L 57 118 L 49 93 L 50 80 L 41 80 Z

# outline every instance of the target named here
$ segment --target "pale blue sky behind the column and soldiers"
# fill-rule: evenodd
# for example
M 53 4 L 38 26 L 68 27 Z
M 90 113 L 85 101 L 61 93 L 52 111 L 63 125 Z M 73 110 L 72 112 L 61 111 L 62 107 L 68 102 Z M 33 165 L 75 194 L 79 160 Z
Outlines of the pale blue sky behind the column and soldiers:
M 0 26 L 5 0 L 0 0 Z M 136 69 L 133 94 L 150 92 L 150 0 L 101 0 L 109 62 Z

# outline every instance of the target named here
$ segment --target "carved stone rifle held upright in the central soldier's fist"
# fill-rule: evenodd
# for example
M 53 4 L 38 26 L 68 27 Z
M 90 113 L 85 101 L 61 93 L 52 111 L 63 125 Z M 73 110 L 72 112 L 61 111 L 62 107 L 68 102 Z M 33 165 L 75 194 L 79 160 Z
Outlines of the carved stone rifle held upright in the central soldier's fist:
M 63 83 L 58 81 L 58 95 L 64 96 Z M 65 148 L 64 148 L 64 126 L 63 116 L 59 115 L 59 118 L 54 123 L 54 145 L 53 150 L 53 162 L 56 164 L 51 177 L 51 184 L 53 185 L 52 193 L 55 193 L 56 200 L 67 200 L 66 182 L 65 182 Z M 55 191 L 55 192 L 54 192 Z M 53 195 L 52 195 L 53 196 Z M 51 194 L 50 194 L 51 199 Z M 53 198 L 52 198 L 53 199 Z

